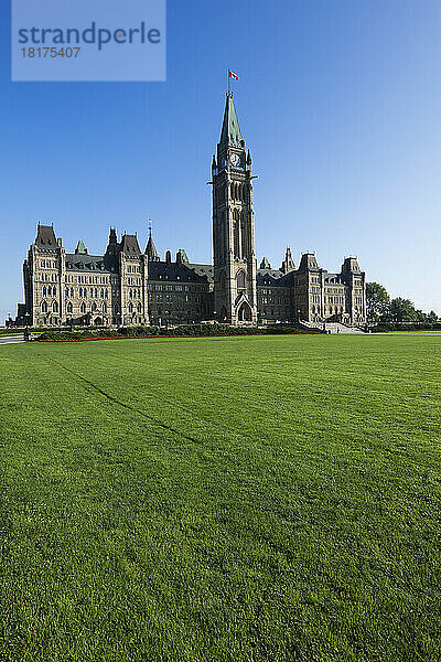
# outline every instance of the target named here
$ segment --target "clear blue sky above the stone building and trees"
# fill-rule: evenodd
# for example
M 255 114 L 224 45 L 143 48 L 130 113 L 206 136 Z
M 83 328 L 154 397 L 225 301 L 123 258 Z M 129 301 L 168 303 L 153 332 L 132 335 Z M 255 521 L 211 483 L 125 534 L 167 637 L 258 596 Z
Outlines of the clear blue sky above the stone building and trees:
M 108 228 L 209 261 L 226 67 L 254 157 L 256 243 L 316 250 L 441 314 L 441 3 L 169 0 L 166 83 L 11 83 L 0 9 L 0 320 L 40 221 L 68 250 Z

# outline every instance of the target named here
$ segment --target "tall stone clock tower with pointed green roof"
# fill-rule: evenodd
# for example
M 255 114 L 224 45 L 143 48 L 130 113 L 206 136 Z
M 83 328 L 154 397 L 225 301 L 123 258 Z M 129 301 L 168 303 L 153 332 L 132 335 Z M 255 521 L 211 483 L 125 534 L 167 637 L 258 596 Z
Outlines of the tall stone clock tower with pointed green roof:
M 257 323 L 251 157 L 229 92 L 217 157 L 213 157 L 212 183 L 216 318 L 229 324 Z

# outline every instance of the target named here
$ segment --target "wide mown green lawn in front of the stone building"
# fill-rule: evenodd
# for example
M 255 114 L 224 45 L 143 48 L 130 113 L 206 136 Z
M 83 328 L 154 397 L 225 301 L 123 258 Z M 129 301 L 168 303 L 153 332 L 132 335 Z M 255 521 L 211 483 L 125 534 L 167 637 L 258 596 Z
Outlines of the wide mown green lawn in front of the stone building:
M 439 661 L 440 350 L 0 346 L 0 660 Z

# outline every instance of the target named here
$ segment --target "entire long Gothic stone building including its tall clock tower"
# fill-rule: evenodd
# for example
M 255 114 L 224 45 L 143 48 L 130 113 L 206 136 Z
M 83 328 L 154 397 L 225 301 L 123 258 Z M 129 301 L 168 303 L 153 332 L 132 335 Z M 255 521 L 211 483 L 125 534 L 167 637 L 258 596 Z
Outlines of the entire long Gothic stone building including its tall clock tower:
M 366 280 L 355 257 L 338 274 L 304 253 L 295 267 L 290 248 L 279 269 L 255 249 L 252 161 L 233 95 L 227 94 L 220 140 L 212 162 L 213 265 L 193 264 L 184 249 L 161 260 L 151 233 L 142 250 L 137 235 L 119 239 L 110 228 L 104 255 L 82 241 L 66 253 L 53 226 L 40 225 L 23 265 L 25 302 L 17 323 L 229 324 L 366 322 Z

